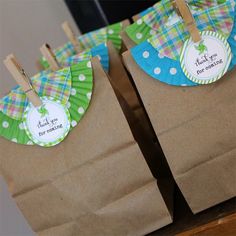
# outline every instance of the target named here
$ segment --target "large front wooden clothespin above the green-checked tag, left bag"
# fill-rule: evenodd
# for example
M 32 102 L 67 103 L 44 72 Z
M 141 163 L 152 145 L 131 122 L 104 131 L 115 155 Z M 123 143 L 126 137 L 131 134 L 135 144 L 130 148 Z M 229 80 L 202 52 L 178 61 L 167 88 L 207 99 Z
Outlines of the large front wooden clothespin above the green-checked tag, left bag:
M 4 64 L 9 70 L 9 72 L 12 74 L 17 84 L 21 86 L 21 89 L 24 91 L 29 101 L 35 107 L 41 106 L 42 101 L 40 97 L 35 92 L 34 88 L 32 87 L 30 78 L 25 73 L 22 66 L 18 63 L 16 57 L 13 54 L 7 56 L 7 58 L 4 60 Z

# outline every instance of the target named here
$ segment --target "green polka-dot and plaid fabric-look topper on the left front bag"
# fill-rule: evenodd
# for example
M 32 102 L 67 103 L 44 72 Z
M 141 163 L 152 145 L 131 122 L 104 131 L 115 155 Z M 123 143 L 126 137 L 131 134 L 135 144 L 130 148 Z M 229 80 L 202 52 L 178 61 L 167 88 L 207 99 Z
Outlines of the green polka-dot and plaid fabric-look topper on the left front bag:
M 84 60 L 56 72 L 44 71 L 31 78 L 39 97 L 54 98 L 69 111 L 70 129 L 75 127 L 89 107 L 93 91 L 90 60 Z M 0 100 L 0 136 L 13 142 L 33 145 L 24 125 L 30 102 L 17 86 Z

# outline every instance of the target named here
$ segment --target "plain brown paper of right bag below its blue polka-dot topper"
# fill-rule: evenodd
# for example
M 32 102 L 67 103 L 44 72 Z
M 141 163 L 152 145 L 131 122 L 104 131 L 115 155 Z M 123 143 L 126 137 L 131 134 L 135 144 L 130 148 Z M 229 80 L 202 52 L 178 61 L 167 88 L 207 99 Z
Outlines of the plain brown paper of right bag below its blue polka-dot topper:
M 198 87 L 149 77 L 123 54 L 175 180 L 194 213 L 236 196 L 236 71 Z

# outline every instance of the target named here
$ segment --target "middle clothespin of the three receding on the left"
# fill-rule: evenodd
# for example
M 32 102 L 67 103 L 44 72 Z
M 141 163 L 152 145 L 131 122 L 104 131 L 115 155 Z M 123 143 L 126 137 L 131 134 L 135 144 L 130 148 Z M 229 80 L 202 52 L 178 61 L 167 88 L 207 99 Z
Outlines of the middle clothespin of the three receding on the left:
M 43 46 L 40 48 L 40 51 L 47 60 L 52 71 L 57 71 L 61 68 L 55 54 L 53 53 L 51 47 L 48 44 L 43 44 Z

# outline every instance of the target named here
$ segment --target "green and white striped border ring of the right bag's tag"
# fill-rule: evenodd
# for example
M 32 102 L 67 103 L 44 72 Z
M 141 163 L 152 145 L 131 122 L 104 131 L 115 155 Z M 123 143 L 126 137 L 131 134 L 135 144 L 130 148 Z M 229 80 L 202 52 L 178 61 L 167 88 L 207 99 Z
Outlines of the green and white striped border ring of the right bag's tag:
M 219 80 L 227 72 L 230 62 L 231 62 L 231 59 L 232 59 L 231 48 L 229 46 L 229 43 L 227 42 L 227 39 L 219 33 L 216 33 L 213 31 L 203 31 L 203 32 L 201 32 L 201 36 L 214 36 L 224 43 L 224 45 L 227 49 L 227 56 L 228 56 L 228 62 L 225 64 L 225 68 L 222 70 L 222 72 L 218 76 L 210 78 L 208 80 L 201 80 L 197 77 L 194 77 L 192 74 L 190 74 L 188 72 L 187 68 L 185 67 L 185 52 L 186 52 L 186 48 L 189 46 L 189 44 L 192 43 L 191 38 L 186 40 L 186 42 L 184 43 L 184 46 L 183 46 L 181 54 L 180 54 L 180 64 L 181 64 L 181 68 L 182 68 L 184 74 L 187 76 L 188 79 L 190 79 L 191 81 L 198 83 L 198 84 L 210 84 L 210 83 L 213 83 L 213 82 Z

